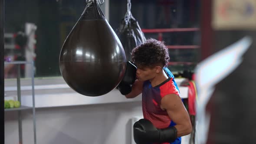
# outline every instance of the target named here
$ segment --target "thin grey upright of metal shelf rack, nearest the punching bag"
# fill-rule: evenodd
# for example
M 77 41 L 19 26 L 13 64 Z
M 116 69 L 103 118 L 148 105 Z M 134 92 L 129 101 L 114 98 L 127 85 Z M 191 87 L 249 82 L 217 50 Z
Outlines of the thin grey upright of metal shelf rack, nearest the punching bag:
M 33 100 L 33 125 L 34 125 L 34 144 L 36 144 L 36 108 L 35 108 L 35 89 L 34 89 L 34 62 L 31 64 L 32 78 L 32 100 Z

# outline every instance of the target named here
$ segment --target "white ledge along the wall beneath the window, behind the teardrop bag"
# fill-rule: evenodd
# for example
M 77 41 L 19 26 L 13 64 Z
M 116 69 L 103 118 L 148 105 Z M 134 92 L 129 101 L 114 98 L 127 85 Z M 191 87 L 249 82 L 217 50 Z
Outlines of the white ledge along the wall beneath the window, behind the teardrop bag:
M 187 87 L 180 87 L 181 98 L 187 98 Z M 32 106 L 32 96 L 26 95 L 21 97 L 22 105 Z M 84 96 L 76 92 L 72 93 L 59 93 L 59 94 L 40 94 L 35 95 L 35 107 L 59 107 L 59 106 L 72 106 L 72 105 L 96 105 L 96 104 L 108 104 L 108 103 L 121 103 L 141 101 L 141 95 L 136 98 L 125 98 L 116 89 L 113 91 L 97 97 Z

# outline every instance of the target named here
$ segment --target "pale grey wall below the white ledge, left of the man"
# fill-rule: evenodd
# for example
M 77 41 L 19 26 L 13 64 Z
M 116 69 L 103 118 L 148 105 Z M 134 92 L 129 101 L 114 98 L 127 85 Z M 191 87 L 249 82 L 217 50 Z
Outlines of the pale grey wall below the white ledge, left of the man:
M 23 143 L 32 144 L 32 111 L 22 113 Z M 131 117 L 141 113 L 140 101 L 36 108 L 37 144 L 131 144 Z M 6 141 L 18 143 L 17 113 L 5 114 Z

